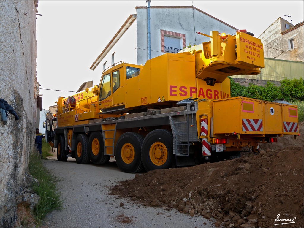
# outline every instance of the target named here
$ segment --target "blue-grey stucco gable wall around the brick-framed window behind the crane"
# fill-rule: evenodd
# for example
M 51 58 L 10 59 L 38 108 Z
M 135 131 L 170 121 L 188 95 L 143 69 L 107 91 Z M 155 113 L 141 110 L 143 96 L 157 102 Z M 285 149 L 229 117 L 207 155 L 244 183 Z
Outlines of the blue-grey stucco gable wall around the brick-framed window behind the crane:
M 136 8 L 137 21 L 137 64 L 147 61 L 147 8 Z M 233 26 L 233 25 L 231 25 Z M 232 35 L 236 29 L 192 8 L 151 8 L 151 58 L 164 54 L 161 52 L 160 30 L 185 34 L 186 45 L 200 44 L 210 40 L 198 35 L 202 32 L 210 35 L 210 31 L 225 32 Z M 182 47 L 183 48 L 183 47 Z

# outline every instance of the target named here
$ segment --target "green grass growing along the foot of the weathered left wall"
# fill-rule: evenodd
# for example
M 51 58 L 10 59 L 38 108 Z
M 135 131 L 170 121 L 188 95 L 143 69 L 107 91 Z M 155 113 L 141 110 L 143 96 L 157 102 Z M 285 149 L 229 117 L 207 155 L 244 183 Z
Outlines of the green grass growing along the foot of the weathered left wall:
M 45 139 L 42 141 L 43 158 L 46 156 L 52 156 L 52 154 L 49 153 L 50 146 L 45 142 Z M 39 202 L 33 211 L 35 220 L 39 224 L 41 219 L 43 219 L 48 212 L 55 209 L 61 210 L 63 201 L 60 199 L 60 194 L 57 191 L 58 179 L 50 174 L 47 168 L 43 165 L 36 150 L 32 151 L 29 155 L 29 173 L 33 178 L 36 178 L 39 181 L 39 183 L 33 183 L 33 192 L 40 196 Z

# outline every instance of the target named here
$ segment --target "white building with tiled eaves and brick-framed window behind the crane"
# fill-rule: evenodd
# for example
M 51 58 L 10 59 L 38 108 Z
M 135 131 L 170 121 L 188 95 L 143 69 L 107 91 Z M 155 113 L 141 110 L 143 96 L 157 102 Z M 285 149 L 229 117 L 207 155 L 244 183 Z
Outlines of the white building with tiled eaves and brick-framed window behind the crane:
M 218 31 L 233 35 L 238 30 L 193 6 L 137 6 L 135 9 L 136 14 L 126 19 L 92 64 L 91 70 L 98 64 L 102 65 L 99 69 L 104 70 L 119 61 L 145 64 L 148 54 L 154 58 L 166 52 L 176 53 L 189 43 L 193 45 L 210 40 L 196 32 L 210 35 L 210 31 Z

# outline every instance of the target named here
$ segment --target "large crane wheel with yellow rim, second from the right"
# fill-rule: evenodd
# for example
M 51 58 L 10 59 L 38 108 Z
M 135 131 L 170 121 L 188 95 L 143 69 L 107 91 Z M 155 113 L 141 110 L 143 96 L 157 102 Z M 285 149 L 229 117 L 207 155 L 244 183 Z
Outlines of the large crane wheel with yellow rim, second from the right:
M 144 170 L 140 157 L 143 136 L 134 132 L 123 133 L 115 148 L 115 159 L 118 168 L 125 173 L 138 173 Z

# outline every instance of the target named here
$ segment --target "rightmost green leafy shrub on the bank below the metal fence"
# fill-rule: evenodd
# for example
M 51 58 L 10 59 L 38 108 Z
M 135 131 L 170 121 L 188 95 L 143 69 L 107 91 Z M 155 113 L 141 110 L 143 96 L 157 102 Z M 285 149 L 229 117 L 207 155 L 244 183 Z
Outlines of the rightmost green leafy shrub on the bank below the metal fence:
M 303 79 L 284 79 L 281 81 L 280 90 L 287 102 L 303 101 Z

